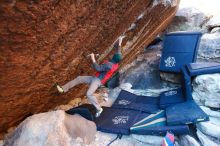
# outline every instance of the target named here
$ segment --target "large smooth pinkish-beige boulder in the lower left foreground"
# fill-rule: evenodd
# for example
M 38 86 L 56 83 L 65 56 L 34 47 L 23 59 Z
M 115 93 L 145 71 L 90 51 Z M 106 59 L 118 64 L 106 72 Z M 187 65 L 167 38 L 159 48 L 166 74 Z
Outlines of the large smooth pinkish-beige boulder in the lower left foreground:
M 85 145 L 95 139 L 96 125 L 64 111 L 36 114 L 23 121 L 4 140 L 7 146 Z

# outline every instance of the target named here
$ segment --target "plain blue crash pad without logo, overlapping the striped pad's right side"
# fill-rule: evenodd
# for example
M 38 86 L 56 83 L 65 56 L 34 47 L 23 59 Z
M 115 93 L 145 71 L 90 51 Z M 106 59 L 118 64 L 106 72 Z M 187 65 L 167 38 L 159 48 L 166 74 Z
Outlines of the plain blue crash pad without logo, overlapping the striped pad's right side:
M 189 100 L 166 108 L 167 125 L 183 125 L 208 121 L 208 115 L 195 103 Z

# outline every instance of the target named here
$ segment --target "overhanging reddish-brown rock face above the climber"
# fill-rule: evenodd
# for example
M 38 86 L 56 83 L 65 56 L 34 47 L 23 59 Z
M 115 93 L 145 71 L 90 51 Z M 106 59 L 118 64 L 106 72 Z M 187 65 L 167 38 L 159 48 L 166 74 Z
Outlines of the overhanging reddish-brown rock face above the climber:
M 103 61 L 123 32 L 127 39 L 121 65 L 131 62 L 166 28 L 178 4 L 179 0 L 1 1 L 0 133 L 27 116 L 82 97 L 85 86 L 62 96 L 51 88 L 55 82 L 92 75 L 85 56 L 99 53 Z M 132 23 L 135 27 L 126 31 Z

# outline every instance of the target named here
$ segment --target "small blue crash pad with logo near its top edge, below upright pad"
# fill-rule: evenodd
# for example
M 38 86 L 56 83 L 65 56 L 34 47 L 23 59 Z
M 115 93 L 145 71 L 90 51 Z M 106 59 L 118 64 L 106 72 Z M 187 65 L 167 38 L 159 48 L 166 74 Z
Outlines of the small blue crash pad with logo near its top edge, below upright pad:
M 160 108 L 164 109 L 177 103 L 185 101 L 181 88 L 165 91 L 160 95 Z

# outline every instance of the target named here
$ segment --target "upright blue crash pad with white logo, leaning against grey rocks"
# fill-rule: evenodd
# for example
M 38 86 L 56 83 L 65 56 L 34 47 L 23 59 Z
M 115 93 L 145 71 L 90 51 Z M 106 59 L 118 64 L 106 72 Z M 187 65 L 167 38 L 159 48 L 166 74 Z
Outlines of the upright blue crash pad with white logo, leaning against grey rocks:
M 166 34 L 160 60 L 160 70 L 179 73 L 183 65 L 195 62 L 201 35 L 200 32 Z

